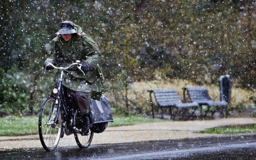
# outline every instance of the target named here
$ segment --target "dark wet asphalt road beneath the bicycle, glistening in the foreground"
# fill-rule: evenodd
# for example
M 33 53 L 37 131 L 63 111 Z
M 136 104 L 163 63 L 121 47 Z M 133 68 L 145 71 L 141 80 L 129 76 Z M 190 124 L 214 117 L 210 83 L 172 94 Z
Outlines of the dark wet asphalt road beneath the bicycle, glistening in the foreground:
M 87 149 L 57 148 L 0 151 L 0 159 L 256 159 L 256 134 L 211 138 L 93 145 Z

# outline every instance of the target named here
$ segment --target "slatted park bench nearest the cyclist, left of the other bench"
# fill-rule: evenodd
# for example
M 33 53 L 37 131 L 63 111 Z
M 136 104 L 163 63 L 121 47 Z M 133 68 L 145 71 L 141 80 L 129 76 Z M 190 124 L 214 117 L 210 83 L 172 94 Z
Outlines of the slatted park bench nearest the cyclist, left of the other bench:
M 152 93 L 154 93 L 154 97 L 156 99 L 157 105 L 161 108 L 162 111 L 162 118 L 164 118 L 163 108 L 170 109 L 171 118 L 174 119 L 175 116 L 178 114 L 179 109 L 183 110 L 182 119 L 185 116 L 186 111 L 189 108 L 192 108 L 191 116 L 194 114 L 194 110 L 199 106 L 198 103 L 182 103 L 180 101 L 179 95 L 176 90 L 173 89 L 154 89 L 148 90 L 150 92 L 150 103 L 152 107 L 152 116 L 154 116 L 154 104 L 152 101 Z M 173 114 L 173 108 L 176 108 L 176 112 Z

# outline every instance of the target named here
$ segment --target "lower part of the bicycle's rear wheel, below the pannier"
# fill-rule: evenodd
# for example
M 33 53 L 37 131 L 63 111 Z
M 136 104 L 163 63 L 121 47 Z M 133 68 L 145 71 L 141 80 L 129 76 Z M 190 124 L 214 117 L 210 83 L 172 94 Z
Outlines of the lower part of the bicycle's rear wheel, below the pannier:
M 81 131 L 82 129 L 80 129 Z M 76 144 L 80 148 L 88 148 L 92 142 L 93 132 L 89 130 L 88 135 L 81 135 L 80 133 L 74 133 Z

